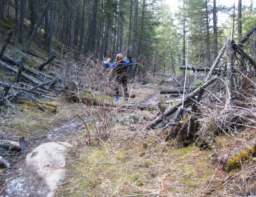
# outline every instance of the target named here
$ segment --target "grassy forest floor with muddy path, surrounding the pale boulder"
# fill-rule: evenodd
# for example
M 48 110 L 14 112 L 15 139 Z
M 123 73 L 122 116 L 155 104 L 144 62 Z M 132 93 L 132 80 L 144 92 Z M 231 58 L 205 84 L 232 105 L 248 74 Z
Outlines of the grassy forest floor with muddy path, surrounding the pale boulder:
M 159 106 L 159 101 L 164 104 L 166 100 L 166 96 L 159 94 L 160 89 L 166 89 L 165 84 L 130 84 L 129 89 L 136 95 L 129 103 Z M 221 170 L 214 155 L 224 155 L 243 140 L 253 138 L 251 132 L 212 138 L 207 150 L 196 145 L 177 149 L 172 140 L 163 142 L 162 129 L 144 129 L 148 120 L 156 116 L 156 108 L 127 108 L 122 98 L 113 108 L 70 103 L 62 96 L 48 102 L 58 106 L 56 114 L 29 105 L 17 105 L 8 112 L 2 110 L 6 118 L 1 122 L 1 130 L 24 136 L 28 142 L 24 152 L 9 157 L 12 167 L 1 171 L 2 196 L 47 196 L 49 188 L 45 180 L 26 166 L 26 155 L 47 142 L 72 145 L 68 150 L 65 180 L 58 183 L 55 196 L 244 194 L 245 184 L 241 178 L 245 175 L 241 169 Z M 90 124 L 92 114 L 104 119 Z M 87 121 L 86 125 L 81 120 Z M 93 138 L 90 145 L 88 133 L 91 137 L 99 136 Z

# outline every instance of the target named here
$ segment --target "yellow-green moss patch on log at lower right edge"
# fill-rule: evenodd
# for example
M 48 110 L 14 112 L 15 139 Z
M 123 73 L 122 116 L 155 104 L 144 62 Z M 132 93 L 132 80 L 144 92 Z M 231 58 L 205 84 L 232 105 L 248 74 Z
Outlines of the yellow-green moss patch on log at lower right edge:
M 226 168 L 228 171 L 239 168 L 241 166 L 240 161 L 248 161 L 255 154 L 255 146 L 250 145 L 247 149 L 241 149 L 235 154 L 231 156 L 227 163 Z

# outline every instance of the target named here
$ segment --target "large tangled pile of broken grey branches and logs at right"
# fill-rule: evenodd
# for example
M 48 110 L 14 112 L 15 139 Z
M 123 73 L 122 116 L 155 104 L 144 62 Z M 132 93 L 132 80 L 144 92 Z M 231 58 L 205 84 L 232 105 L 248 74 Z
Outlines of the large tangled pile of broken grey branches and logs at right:
M 253 31 L 255 31 L 255 29 L 254 27 Z M 200 87 L 193 89 L 193 91 L 186 94 L 186 96 L 177 103 L 168 106 L 163 113 L 152 120 L 152 122 L 149 122 L 147 129 L 155 127 L 168 129 L 165 141 L 173 138 L 178 142 L 178 138 L 183 138 L 182 141 L 184 143 L 186 139 L 187 141 L 189 138 L 193 139 L 195 135 L 198 134 L 198 131 L 201 131 L 198 126 L 202 128 L 201 121 L 205 113 L 208 113 L 210 116 L 212 115 L 212 98 L 214 98 L 216 102 L 215 105 L 218 103 L 218 105 L 221 106 L 220 111 L 223 112 L 222 117 L 219 114 L 220 119 L 217 121 L 221 129 L 218 129 L 218 132 L 214 132 L 212 135 L 234 132 L 239 126 L 254 126 L 254 110 L 250 109 L 253 113 L 246 113 L 246 116 L 243 118 L 241 115 L 236 115 L 241 114 L 241 106 L 243 106 L 243 112 L 244 108 L 249 106 L 246 102 L 247 100 L 255 100 L 255 96 L 250 92 L 252 92 L 252 88 L 255 87 L 256 63 L 250 56 L 252 54 L 244 52 L 244 50 L 239 47 L 241 43 L 244 43 L 244 41 L 253 34 L 253 31 L 249 31 L 249 33 L 246 34 L 246 38 L 243 37 L 239 43 L 235 43 L 234 40 L 231 39 L 228 40 L 221 48 L 211 68 L 194 67 L 190 65 L 180 67 L 180 69 L 191 69 L 193 71 L 207 71 L 208 74 Z M 240 55 L 239 59 L 236 58 L 238 55 Z M 220 62 L 221 65 L 224 66 L 220 66 Z M 248 73 L 248 71 L 250 73 Z M 249 85 L 246 82 L 249 82 Z M 247 89 L 244 90 L 241 84 L 247 84 Z M 183 90 L 167 90 L 161 91 L 160 93 L 182 94 Z M 252 105 L 250 105 L 250 107 L 252 107 Z M 255 106 L 253 105 L 253 109 L 254 108 Z M 230 116 L 229 119 L 227 115 Z M 225 122 L 225 120 L 227 122 Z M 177 124 L 171 126 L 173 122 L 177 122 Z M 209 133 L 207 135 L 209 135 Z

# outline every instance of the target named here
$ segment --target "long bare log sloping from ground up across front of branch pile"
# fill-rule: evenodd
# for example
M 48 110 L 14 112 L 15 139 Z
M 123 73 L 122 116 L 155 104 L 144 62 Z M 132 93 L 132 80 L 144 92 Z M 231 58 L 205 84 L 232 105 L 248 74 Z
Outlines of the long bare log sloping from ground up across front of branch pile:
M 208 85 L 212 84 L 216 79 L 217 79 L 217 77 L 212 78 L 211 80 L 205 82 L 201 87 L 198 87 L 197 89 L 195 89 L 195 91 L 189 93 L 184 98 L 184 103 L 187 103 L 189 101 L 189 99 L 194 98 L 196 95 L 200 94 L 200 92 L 203 91 L 203 89 L 205 87 L 207 87 Z M 150 128 L 153 128 L 154 126 L 156 126 L 157 124 L 159 124 L 159 122 L 161 122 L 165 117 L 168 117 L 173 112 L 175 112 L 177 110 L 177 108 L 179 108 L 179 106 L 182 105 L 182 103 L 183 103 L 183 101 L 181 100 L 178 103 L 176 103 L 175 105 L 171 106 L 171 108 L 166 110 L 166 112 L 164 112 L 163 114 L 159 115 L 156 119 L 154 119 L 152 122 L 150 122 L 150 124 L 148 124 L 146 128 L 150 129 Z

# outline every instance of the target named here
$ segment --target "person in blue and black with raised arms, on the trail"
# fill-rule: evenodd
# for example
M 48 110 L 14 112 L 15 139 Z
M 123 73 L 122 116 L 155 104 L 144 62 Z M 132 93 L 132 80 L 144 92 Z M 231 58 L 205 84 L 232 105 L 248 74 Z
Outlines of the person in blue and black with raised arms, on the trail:
M 114 101 L 118 101 L 120 98 L 118 85 L 122 84 L 124 87 L 124 96 L 125 98 L 129 98 L 128 94 L 128 66 L 132 66 L 133 61 L 132 57 L 128 56 L 127 59 L 124 59 L 122 54 L 117 54 L 114 62 L 111 62 L 111 59 L 108 61 L 104 61 L 106 68 L 113 67 L 113 72 L 115 73 L 115 99 Z

